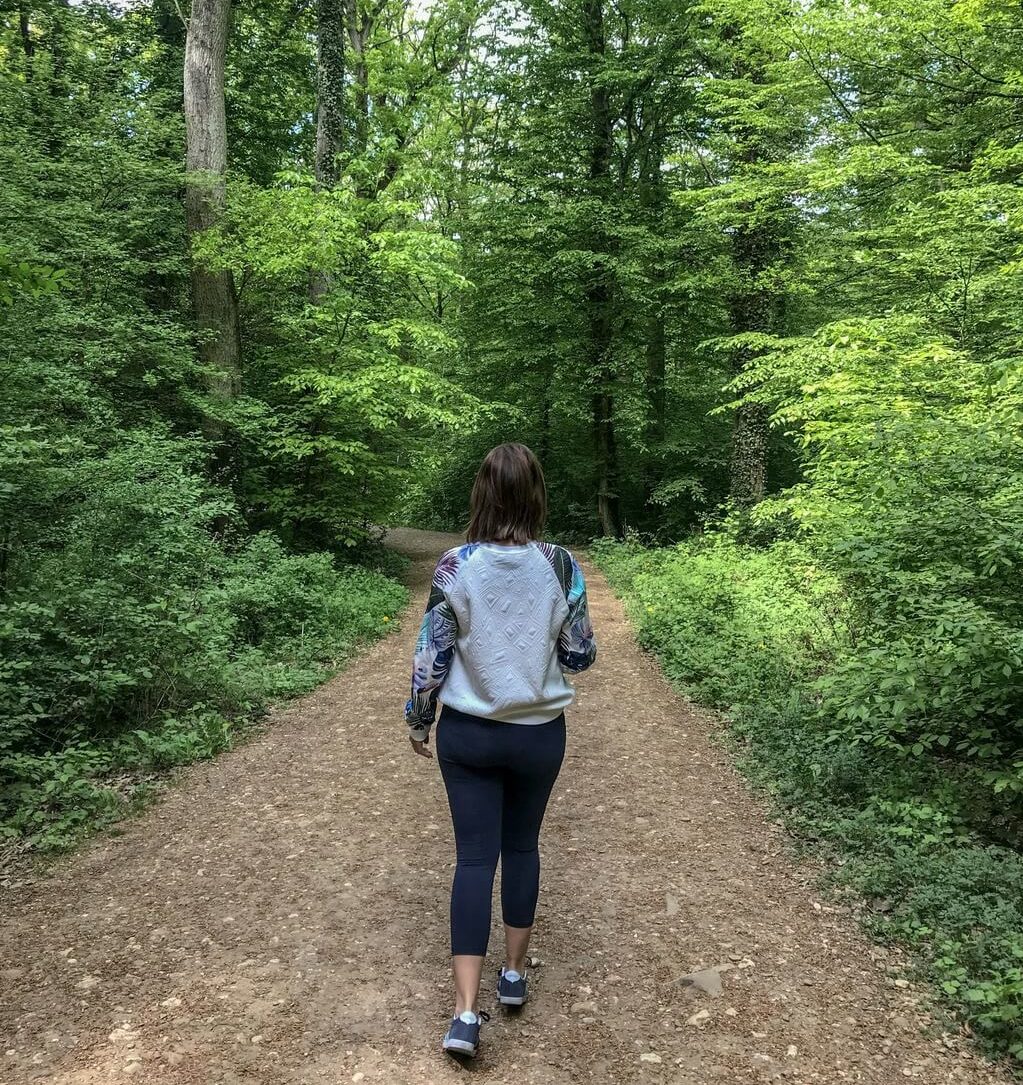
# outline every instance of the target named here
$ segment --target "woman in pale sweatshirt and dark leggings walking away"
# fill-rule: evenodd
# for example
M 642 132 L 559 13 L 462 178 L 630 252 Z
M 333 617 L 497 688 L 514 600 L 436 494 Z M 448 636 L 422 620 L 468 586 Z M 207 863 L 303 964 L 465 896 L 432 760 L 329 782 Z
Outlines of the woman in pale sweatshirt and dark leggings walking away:
M 566 672 L 597 658 L 586 585 L 575 558 L 539 541 L 547 487 L 525 445 L 484 459 L 471 497 L 468 541 L 442 554 L 415 646 L 405 707 L 415 753 L 437 757 L 455 827 L 451 960 L 455 1016 L 446 1051 L 475 1055 L 479 981 L 501 860 L 504 967 L 498 1001 L 526 1000 L 526 950 L 539 893 L 537 851 L 547 801 L 565 753 Z M 443 689 L 442 689 L 443 687 Z

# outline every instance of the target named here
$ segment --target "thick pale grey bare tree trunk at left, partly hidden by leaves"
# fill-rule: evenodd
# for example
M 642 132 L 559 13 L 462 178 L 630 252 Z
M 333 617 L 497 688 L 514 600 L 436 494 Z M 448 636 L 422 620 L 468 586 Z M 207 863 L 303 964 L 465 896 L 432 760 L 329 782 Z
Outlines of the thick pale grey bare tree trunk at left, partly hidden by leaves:
M 184 44 L 184 206 L 190 238 L 215 226 L 223 212 L 228 151 L 223 65 L 230 21 L 230 0 L 194 0 Z M 192 304 L 212 407 L 204 429 L 221 446 L 218 457 L 227 465 L 231 457 L 223 447 L 227 424 L 220 408 L 238 395 L 242 361 L 231 272 L 213 271 L 193 260 Z

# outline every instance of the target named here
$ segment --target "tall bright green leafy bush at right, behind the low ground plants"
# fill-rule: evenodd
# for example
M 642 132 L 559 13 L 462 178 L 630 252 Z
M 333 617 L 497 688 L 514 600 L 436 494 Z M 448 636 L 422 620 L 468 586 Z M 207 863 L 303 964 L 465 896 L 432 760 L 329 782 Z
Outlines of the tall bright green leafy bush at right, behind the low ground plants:
M 749 380 L 807 454 L 806 481 L 758 516 L 797 525 L 853 608 L 826 715 L 848 742 L 954 758 L 1018 816 L 1023 366 L 890 318 L 782 343 Z

